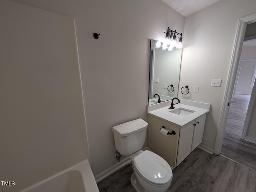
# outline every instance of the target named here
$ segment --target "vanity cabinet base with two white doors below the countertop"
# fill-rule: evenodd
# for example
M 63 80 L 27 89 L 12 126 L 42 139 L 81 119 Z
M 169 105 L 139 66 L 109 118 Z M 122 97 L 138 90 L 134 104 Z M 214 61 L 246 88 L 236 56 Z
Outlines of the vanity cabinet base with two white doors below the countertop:
M 204 134 L 206 114 L 180 127 L 170 121 L 148 115 L 148 147 L 164 158 L 171 166 L 178 166 L 200 143 Z M 175 135 L 160 133 L 164 126 Z

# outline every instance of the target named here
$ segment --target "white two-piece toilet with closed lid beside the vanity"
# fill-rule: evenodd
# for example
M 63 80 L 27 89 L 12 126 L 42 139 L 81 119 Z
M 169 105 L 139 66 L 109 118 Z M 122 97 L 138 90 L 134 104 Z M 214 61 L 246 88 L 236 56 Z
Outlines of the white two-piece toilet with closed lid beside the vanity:
M 133 173 L 131 183 L 137 192 L 164 192 L 171 184 L 172 169 L 159 155 L 142 151 L 148 123 L 142 119 L 112 128 L 116 150 L 130 155 Z

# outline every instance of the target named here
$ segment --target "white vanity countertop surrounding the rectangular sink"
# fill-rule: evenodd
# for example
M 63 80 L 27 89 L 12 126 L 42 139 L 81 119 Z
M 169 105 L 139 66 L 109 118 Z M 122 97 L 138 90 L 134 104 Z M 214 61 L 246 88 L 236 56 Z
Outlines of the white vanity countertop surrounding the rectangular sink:
M 147 113 L 150 115 L 156 116 L 158 118 L 162 118 L 163 120 L 170 121 L 171 123 L 174 123 L 175 125 L 182 127 L 182 126 L 186 125 L 187 123 L 189 123 L 190 121 L 193 121 L 196 118 L 198 118 L 199 116 L 202 116 L 203 114 L 206 114 L 210 111 L 208 109 L 184 105 L 181 103 L 176 104 L 174 107 L 175 107 L 175 109 L 168 109 L 168 108 L 170 108 L 170 106 L 166 106 L 163 108 L 149 111 Z M 192 110 L 195 112 L 193 112 L 192 114 L 189 114 L 187 116 L 180 116 L 180 115 L 170 112 L 170 111 L 176 110 L 178 108 L 185 108 L 185 109 Z

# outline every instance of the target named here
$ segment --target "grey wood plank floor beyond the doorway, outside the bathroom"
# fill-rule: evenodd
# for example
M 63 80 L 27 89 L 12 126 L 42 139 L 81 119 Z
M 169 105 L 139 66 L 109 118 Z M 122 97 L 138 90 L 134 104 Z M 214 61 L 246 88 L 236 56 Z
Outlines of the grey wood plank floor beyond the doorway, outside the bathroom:
M 256 171 L 256 144 L 241 139 L 250 95 L 235 94 L 220 154 Z

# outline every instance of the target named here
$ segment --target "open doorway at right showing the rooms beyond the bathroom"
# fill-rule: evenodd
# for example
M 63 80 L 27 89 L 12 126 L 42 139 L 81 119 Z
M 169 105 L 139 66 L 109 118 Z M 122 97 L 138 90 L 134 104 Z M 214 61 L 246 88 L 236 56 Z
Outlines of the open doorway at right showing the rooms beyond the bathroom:
M 252 108 L 255 100 L 254 97 L 252 100 L 250 98 L 252 91 L 255 92 L 256 23 L 247 25 L 244 39 L 248 39 L 246 34 L 253 33 L 250 40 L 243 43 L 220 154 L 256 171 L 256 143 L 246 141 L 251 115 L 248 106 Z

